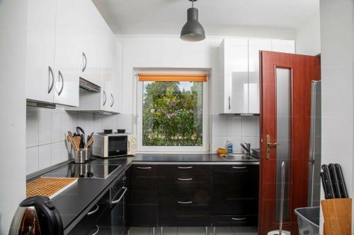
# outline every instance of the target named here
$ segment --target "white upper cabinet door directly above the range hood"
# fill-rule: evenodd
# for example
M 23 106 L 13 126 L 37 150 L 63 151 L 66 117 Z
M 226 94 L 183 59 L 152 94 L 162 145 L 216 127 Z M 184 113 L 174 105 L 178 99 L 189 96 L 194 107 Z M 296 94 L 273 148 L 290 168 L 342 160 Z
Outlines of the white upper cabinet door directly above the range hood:
M 103 18 L 92 1 L 83 3 L 81 78 L 101 85 L 102 80 L 102 40 Z

